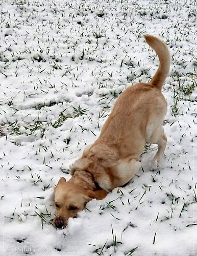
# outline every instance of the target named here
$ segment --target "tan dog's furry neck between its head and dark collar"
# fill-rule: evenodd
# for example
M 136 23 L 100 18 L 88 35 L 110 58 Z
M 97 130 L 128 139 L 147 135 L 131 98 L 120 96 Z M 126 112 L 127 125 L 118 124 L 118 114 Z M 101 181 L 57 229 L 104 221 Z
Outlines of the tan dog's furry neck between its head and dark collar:
M 85 189 L 93 191 L 101 189 L 99 184 L 94 180 L 94 176 L 87 170 L 76 170 L 70 181 L 83 186 Z

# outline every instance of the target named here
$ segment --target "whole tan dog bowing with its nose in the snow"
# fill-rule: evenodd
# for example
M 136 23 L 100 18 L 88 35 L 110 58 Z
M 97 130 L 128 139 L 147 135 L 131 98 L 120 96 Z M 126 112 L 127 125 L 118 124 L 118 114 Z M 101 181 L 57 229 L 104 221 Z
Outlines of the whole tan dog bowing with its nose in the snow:
M 57 227 L 65 226 L 89 200 L 103 199 L 108 191 L 129 182 L 141 166 L 139 157 L 146 142 L 158 144 L 153 165 L 158 166 L 162 159 L 167 142 L 162 127 L 167 103 L 161 89 L 169 72 L 170 55 L 157 37 L 145 35 L 145 40 L 158 54 L 159 68 L 149 83 L 130 86 L 119 96 L 99 138 L 71 166 L 71 179 L 58 182 Z

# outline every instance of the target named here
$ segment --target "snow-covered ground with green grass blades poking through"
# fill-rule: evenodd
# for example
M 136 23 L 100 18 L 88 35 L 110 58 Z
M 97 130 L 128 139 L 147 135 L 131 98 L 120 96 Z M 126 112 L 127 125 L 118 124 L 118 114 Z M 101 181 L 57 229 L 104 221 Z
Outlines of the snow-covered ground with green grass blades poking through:
M 196 3 L 7 0 L 0 10 L 0 254 L 197 255 Z M 163 164 L 150 170 L 147 145 L 127 186 L 56 230 L 53 187 L 117 96 L 157 69 L 145 33 L 171 52 Z

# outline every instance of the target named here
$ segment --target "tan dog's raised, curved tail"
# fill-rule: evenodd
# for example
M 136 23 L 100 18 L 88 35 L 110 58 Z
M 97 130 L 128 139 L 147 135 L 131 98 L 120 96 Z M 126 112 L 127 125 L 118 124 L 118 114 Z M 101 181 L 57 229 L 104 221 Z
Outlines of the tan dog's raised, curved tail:
M 145 35 L 144 37 L 147 44 L 157 53 L 159 57 L 159 68 L 149 83 L 161 90 L 169 73 L 169 50 L 166 44 L 159 38 L 152 35 Z

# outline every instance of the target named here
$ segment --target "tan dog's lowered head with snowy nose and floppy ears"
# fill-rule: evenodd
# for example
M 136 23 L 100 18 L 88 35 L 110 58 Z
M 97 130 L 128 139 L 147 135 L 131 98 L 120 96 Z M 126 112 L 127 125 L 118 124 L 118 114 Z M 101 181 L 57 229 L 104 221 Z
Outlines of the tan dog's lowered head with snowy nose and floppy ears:
M 76 217 L 78 212 L 85 208 L 88 201 L 93 198 L 103 199 L 106 194 L 104 190 L 91 191 L 61 178 L 55 187 L 56 216 L 53 221 L 54 226 L 64 228 L 68 219 Z

